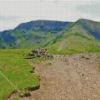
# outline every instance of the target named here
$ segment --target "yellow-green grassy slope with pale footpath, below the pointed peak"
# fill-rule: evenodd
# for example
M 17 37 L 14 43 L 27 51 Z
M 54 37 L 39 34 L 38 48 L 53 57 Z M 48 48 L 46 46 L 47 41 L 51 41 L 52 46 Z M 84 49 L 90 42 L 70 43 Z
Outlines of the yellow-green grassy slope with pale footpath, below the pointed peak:
M 57 51 L 61 43 L 66 39 L 60 51 Z M 53 54 L 74 54 L 83 52 L 100 52 L 100 41 L 82 35 L 80 33 L 67 33 L 53 45 L 45 47 Z

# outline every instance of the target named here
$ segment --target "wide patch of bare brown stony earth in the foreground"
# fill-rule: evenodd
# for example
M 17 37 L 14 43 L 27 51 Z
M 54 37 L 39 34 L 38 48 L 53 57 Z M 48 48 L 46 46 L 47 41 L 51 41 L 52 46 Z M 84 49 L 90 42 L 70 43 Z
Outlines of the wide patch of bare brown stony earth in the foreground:
M 99 100 L 100 58 L 95 53 L 55 55 L 35 66 L 40 88 L 27 100 Z M 24 98 L 25 99 L 25 98 Z

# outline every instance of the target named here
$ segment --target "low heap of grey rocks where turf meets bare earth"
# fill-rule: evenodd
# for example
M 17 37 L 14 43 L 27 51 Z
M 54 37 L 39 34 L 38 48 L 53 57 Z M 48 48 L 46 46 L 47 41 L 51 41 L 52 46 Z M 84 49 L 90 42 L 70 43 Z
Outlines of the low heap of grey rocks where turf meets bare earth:
M 49 58 L 53 57 L 53 55 L 47 52 L 47 49 L 44 50 L 41 48 L 32 50 L 31 52 L 28 53 L 28 56 L 49 57 Z

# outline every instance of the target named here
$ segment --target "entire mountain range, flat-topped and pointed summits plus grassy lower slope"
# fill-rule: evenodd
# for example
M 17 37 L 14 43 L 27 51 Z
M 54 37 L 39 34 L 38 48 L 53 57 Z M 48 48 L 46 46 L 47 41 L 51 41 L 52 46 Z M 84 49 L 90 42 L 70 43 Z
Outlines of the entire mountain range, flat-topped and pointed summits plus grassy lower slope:
M 51 53 L 100 51 L 100 22 L 37 20 L 0 32 L 0 48 L 48 48 Z

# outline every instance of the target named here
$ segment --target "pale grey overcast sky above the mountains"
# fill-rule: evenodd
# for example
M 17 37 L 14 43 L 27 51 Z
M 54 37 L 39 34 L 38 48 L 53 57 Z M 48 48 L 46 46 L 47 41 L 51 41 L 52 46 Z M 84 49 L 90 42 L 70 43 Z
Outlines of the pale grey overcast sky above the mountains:
M 100 0 L 0 0 L 0 31 L 32 20 L 100 22 Z

